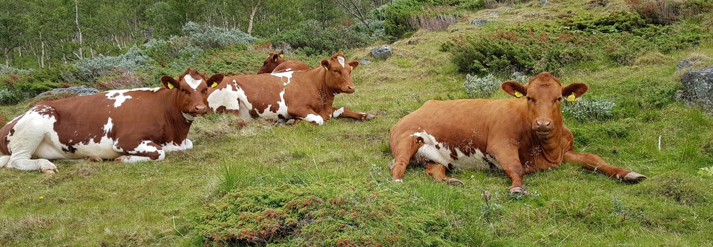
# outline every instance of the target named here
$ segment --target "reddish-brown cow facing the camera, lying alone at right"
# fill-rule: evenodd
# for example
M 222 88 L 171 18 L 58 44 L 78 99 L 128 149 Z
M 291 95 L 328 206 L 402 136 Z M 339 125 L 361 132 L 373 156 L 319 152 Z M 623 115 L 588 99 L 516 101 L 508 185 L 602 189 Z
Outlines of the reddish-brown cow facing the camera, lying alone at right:
M 563 97 L 575 101 L 589 89 L 584 83 L 564 86 L 547 72 L 526 85 L 515 81 L 501 88 L 511 100 L 429 100 L 403 117 L 390 131 L 394 164 L 391 178 L 402 182 L 409 162 L 424 164 L 438 182 L 463 184 L 446 170 L 498 169 L 510 178 L 511 193 L 523 193 L 523 175 L 575 162 L 622 182 L 647 177 L 613 167 L 596 154 L 573 150 L 573 135 L 563 124 Z

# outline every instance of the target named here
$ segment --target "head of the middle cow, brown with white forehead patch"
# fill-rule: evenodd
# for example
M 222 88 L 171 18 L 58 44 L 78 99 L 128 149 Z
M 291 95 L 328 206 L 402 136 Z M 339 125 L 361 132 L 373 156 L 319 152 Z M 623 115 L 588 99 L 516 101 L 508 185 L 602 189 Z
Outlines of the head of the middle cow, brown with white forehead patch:
M 352 82 L 352 70 L 359 66 L 359 61 L 344 61 L 344 54 L 332 55 L 329 60 L 322 60 L 322 69 L 326 70 L 324 82 L 327 87 L 336 93 L 354 93 L 355 87 Z

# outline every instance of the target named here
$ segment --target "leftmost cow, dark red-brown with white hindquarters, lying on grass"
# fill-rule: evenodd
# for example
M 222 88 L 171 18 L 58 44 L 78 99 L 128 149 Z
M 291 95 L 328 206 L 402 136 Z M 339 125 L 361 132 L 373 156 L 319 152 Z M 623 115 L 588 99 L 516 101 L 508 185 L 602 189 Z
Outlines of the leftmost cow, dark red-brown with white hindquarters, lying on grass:
M 36 103 L 0 129 L 0 167 L 52 174 L 58 170 L 49 159 L 134 163 L 190 149 L 190 125 L 208 112 L 207 89 L 222 78 L 215 74 L 206 79 L 188 68 L 178 79 L 163 76 L 164 88 Z

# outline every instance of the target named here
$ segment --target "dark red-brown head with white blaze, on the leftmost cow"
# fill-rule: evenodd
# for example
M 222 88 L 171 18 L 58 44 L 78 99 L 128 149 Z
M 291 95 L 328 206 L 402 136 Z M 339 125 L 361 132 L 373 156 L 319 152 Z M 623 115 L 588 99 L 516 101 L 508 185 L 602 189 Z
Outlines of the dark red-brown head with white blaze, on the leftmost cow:
M 222 78 L 222 74 L 215 74 L 206 79 L 204 74 L 198 73 L 198 70 L 188 68 L 178 76 L 178 80 L 165 75 L 161 78 L 161 83 L 177 95 L 175 103 L 183 115 L 200 117 L 209 110 L 208 88 L 217 87 L 222 82 Z

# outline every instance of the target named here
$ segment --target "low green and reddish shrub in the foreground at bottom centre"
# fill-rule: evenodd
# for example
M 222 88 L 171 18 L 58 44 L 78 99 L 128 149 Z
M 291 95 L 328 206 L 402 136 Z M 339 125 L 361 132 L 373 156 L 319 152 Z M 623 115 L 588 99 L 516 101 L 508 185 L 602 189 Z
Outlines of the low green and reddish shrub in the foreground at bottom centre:
M 376 184 L 230 187 L 198 216 L 194 231 L 208 246 L 458 246 L 440 211 Z

